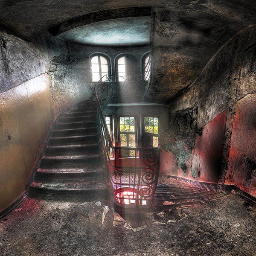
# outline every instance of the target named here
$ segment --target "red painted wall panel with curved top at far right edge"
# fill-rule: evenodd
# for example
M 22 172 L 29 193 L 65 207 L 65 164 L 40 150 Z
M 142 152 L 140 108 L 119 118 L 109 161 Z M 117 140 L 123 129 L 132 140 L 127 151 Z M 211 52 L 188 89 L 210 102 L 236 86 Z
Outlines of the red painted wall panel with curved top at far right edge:
M 236 103 L 226 184 L 256 196 L 256 94 Z

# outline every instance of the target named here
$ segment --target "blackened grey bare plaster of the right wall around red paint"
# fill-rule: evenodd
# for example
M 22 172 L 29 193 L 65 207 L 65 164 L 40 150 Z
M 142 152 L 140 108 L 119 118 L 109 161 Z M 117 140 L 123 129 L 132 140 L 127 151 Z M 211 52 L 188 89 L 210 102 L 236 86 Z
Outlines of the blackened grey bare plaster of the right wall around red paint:
M 221 162 L 219 181 L 224 183 L 227 178 L 227 169 L 232 164 L 229 161 L 231 154 L 230 141 L 234 128 L 233 117 L 236 115 L 236 103 L 247 94 L 256 93 L 255 38 L 256 26 L 250 26 L 230 38 L 207 63 L 195 83 L 169 104 L 171 109 L 170 127 L 163 134 L 160 142 L 163 148 L 175 155 L 177 169 L 183 164 L 186 165 L 187 173 L 185 175 L 192 179 L 200 180 L 200 177 L 192 173 L 193 159 L 198 157 L 195 155 L 195 151 L 198 151 L 198 148 L 196 148 L 199 145 L 198 141 L 206 135 L 207 129 L 214 128 L 214 125 L 218 123 L 216 120 L 220 116 L 225 118 L 226 124 L 224 125 L 224 139 L 218 141 L 223 145 L 223 153 L 221 159 L 218 160 Z M 227 112 L 227 117 L 223 117 L 224 112 Z M 255 113 L 252 112 L 252 115 L 255 115 Z M 250 145 L 250 140 L 253 139 L 250 138 L 250 134 L 244 141 L 248 145 Z M 196 144 L 195 141 L 197 141 Z M 207 143 L 207 141 L 204 143 Z M 209 146 L 212 146 L 212 151 L 214 151 L 214 146 L 212 144 Z M 255 163 L 256 158 L 251 156 L 250 150 L 248 148 L 248 152 L 243 152 L 244 157 L 250 156 L 250 160 Z M 204 160 L 201 159 L 200 161 L 201 167 L 199 169 L 204 165 Z M 241 165 L 242 162 L 241 159 Z M 209 163 L 210 166 L 211 164 Z M 236 171 L 239 172 L 239 168 Z M 174 170 L 174 172 L 177 172 L 177 170 Z M 180 175 L 183 176 L 183 172 L 180 172 Z M 249 176 L 252 177 L 252 175 Z M 245 176 L 242 178 L 246 179 Z M 239 186 L 248 190 L 253 179 L 244 182 L 246 185 L 241 185 L 240 182 Z M 215 182 L 215 180 L 207 181 Z M 229 183 L 236 184 L 236 180 L 231 179 Z M 250 189 L 248 191 L 250 192 Z

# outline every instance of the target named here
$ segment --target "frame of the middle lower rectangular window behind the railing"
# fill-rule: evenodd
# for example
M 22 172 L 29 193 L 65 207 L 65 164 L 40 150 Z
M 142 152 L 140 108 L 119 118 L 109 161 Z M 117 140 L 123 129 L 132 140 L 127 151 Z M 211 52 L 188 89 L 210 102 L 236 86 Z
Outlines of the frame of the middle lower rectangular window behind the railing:
M 133 131 L 120 131 L 120 117 L 134 117 L 134 132 Z M 137 137 L 137 116 L 133 116 L 133 115 L 121 115 L 121 116 L 117 116 L 117 137 L 118 137 L 118 145 L 119 147 L 123 147 L 121 146 L 121 134 L 126 134 L 126 141 L 128 144 L 128 148 L 130 147 L 129 144 L 129 134 L 134 134 L 135 135 L 135 148 L 138 147 L 138 137 Z M 130 150 L 128 152 L 129 154 L 124 155 L 122 154 L 122 150 L 120 151 L 120 157 L 125 158 L 125 157 L 135 157 L 135 156 L 131 156 Z

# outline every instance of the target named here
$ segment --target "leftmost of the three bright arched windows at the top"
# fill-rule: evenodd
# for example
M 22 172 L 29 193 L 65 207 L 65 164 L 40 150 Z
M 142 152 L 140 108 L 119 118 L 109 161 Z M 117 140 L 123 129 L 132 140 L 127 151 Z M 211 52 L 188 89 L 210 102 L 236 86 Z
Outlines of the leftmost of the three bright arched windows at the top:
M 110 74 L 110 61 L 103 55 L 93 55 L 90 58 L 92 81 L 99 81 L 102 76 Z M 106 81 L 105 76 L 104 80 Z

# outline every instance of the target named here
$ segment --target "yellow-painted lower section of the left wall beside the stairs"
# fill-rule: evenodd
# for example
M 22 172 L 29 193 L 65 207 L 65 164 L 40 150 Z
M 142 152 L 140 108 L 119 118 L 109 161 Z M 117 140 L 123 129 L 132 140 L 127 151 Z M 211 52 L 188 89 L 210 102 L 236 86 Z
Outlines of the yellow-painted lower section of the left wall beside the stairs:
M 53 120 L 47 74 L 0 93 L 0 212 L 25 191 Z

